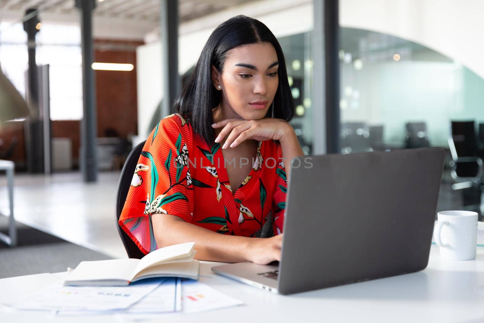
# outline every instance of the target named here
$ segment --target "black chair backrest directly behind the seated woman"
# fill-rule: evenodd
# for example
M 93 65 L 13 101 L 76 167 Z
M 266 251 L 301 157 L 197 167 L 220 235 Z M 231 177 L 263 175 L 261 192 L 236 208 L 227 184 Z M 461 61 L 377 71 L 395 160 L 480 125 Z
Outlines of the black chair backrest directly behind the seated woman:
M 138 246 L 133 240 L 121 229 L 118 221 L 121 216 L 121 211 L 124 207 L 124 202 L 128 196 L 129 187 L 131 186 L 131 180 L 133 179 L 133 174 L 135 173 L 135 168 L 138 163 L 139 156 L 143 150 L 145 141 L 138 144 L 126 158 L 126 162 L 121 170 L 120 182 L 118 184 L 118 193 L 116 194 L 116 228 L 120 234 L 122 244 L 126 249 L 126 253 L 129 258 L 141 259 L 144 253 L 139 250 Z

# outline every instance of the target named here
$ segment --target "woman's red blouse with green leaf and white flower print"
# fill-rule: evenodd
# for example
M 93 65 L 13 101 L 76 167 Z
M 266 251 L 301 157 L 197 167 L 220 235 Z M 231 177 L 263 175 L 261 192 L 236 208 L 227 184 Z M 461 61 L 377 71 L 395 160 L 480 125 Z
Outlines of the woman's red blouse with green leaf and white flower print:
M 145 254 L 157 248 L 157 213 L 222 234 L 257 237 L 268 227 L 280 234 L 287 192 L 280 144 L 259 141 L 252 165 L 233 194 L 220 144 L 207 145 L 178 113 L 169 115 L 146 140 L 119 224 Z

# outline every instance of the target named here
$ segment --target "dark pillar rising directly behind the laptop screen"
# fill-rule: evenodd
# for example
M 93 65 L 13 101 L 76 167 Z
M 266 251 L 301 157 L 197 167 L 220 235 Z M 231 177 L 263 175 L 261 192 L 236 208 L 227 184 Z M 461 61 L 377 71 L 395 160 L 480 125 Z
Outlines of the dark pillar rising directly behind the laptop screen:
M 326 152 L 341 154 L 339 113 L 339 8 L 338 0 L 324 0 L 326 67 Z

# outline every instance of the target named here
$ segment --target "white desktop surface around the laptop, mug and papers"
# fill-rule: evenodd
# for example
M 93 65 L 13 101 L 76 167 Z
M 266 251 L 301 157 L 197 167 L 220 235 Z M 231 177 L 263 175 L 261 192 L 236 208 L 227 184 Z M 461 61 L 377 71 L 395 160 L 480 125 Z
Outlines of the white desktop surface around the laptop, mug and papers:
M 391 247 L 391 246 L 390 246 Z M 418 273 L 281 296 L 217 276 L 200 266 L 200 281 L 245 305 L 197 314 L 161 315 L 157 322 L 484 322 L 484 247 L 472 261 L 444 261 L 431 247 Z M 65 273 L 61 274 L 65 275 Z M 45 277 L 45 276 L 44 276 Z M 42 275 L 0 279 L 0 301 L 42 286 Z M 0 308 L 0 322 L 111 322 L 106 316 L 53 318 Z M 156 322 L 156 321 L 154 321 Z

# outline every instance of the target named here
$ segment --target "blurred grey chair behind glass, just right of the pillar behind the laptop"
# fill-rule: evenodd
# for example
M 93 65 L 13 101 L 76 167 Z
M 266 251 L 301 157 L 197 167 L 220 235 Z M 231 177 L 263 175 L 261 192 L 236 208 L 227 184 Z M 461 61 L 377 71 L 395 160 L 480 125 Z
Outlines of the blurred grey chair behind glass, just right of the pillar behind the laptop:
M 341 124 L 341 153 L 371 152 L 368 125 L 363 122 Z

